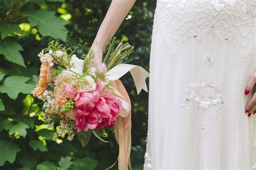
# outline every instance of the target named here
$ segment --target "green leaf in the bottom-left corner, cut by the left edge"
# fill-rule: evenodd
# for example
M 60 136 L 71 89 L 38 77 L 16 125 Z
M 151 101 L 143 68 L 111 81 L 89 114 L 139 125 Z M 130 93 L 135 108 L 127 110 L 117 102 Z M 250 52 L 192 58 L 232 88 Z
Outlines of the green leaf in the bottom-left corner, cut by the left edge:
M 11 141 L 0 140 L 0 151 L 0 166 L 3 166 L 6 161 L 12 164 L 21 149 Z

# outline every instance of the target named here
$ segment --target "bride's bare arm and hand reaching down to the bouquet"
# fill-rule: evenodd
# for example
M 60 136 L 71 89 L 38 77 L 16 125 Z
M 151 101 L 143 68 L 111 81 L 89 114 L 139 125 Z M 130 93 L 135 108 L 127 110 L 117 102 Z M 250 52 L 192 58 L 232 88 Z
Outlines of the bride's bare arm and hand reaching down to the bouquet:
M 100 25 L 96 38 L 91 46 L 91 49 L 95 53 L 93 66 L 100 72 L 103 71 L 102 57 L 107 42 L 109 42 L 116 33 L 135 1 L 136 0 L 112 0 L 110 4 L 110 8 Z

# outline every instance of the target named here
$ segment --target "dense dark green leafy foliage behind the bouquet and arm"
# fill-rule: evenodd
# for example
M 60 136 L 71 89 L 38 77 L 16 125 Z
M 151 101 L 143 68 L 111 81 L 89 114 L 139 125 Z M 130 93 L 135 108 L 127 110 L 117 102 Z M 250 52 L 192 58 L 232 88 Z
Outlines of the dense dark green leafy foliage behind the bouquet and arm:
M 47 129 L 42 102 L 30 95 L 36 86 L 37 54 L 57 39 L 86 54 L 110 0 L 0 0 L 0 169 L 104 169 L 118 155 L 113 134 L 93 137 L 86 147 Z M 149 70 L 156 1 L 139 0 L 116 33 L 136 47 L 133 64 Z M 122 77 L 132 100 L 133 169 L 142 169 L 147 132 L 147 93 L 137 96 L 131 75 Z M 36 116 L 31 116 L 36 113 Z M 112 169 L 117 169 L 115 166 Z

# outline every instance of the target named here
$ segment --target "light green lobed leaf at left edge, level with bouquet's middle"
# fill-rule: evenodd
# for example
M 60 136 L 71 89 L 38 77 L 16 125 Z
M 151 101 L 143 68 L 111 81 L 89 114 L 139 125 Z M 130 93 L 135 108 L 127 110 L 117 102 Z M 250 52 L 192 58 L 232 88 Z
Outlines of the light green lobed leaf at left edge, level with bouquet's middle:
M 16 99 L 19 93 L 30 94 L 31 90 L 35 87 L 32 84 L 25 83 L 29 77 L 12 75 L 4 80 L 0 86 L 1 93 L 7 93 L 12 99 Z M 18 83 L 17 83 L 18 82 Z

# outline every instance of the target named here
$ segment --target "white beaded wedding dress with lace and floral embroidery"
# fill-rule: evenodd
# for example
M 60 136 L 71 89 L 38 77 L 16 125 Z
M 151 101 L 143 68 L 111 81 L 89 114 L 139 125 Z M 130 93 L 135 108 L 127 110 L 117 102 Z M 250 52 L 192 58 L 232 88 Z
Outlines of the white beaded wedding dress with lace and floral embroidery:
M 253 169 L 253 0 L 158 0 L 144 169 Z M 256 166 L 255 166 L 256 167 Z

